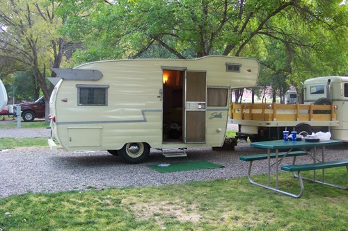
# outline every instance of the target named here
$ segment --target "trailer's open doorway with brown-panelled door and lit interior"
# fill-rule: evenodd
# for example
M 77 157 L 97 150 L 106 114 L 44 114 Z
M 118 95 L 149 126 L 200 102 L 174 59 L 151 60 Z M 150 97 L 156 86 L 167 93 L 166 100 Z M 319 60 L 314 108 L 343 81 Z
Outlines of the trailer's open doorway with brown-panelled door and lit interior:
M 206 72 L 167 68 L 163 72 L 163 143 L 205 143 Z

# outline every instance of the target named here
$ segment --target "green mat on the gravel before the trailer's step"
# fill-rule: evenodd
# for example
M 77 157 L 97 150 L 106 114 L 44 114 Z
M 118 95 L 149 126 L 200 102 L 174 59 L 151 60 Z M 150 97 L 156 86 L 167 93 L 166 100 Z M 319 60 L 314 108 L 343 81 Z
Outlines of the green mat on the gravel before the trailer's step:
M 161 166 L 161 164 L 148 165 L 150 169 L 154 169 L 160 173 L 170 173 L 173 171 L 191 171 L 191 170 L 200 170 L 200 169 L 218 169 L 223 167 L 220 164 L 214 164 L 212 162 L 202 160 L 202 161 L 193 161 L 193 162 L 182 162 L 174 163 L 169 166 Z

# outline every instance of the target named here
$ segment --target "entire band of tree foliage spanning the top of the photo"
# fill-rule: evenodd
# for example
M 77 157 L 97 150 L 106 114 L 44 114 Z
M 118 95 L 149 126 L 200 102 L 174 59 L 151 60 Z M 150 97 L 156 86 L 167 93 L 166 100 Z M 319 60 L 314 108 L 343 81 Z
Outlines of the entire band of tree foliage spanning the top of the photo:
M 66 52 L 74 65 L 246 56 L 262 63 L 260 86 L 281 95 L 306 78 L 347 75 L 347 11 L 342 0 L 3 1 L 0 59 L 3 71 L 33 67 L 41 79 Z

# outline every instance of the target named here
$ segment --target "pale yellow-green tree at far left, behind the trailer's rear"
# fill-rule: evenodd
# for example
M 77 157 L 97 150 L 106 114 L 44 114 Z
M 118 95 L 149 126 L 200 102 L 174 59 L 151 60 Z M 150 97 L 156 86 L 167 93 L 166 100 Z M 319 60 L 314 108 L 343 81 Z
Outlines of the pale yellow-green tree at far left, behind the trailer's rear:
M 60 67 L 72 44 L 57 33 L 65 19 L 56 17 L 56 3 L 49 1 L 1 1 L 0 67 L 3 75 L 33 71 L 46 99 L 54 86 L 45 77 L 50 67 Z M 48 107 L 47 107 L 48 108 Z

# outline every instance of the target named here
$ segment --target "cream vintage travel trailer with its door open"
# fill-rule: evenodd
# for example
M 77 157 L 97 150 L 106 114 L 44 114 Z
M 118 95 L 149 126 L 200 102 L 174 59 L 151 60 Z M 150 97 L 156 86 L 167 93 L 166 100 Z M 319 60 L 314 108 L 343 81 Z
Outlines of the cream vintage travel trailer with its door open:
M 230 90 L 255 87 L 251 58 L 110 60 L 54 69 L 52 139 L 68 151 L 107 150 L 143 162 L 150 148 L 222 146 Z

